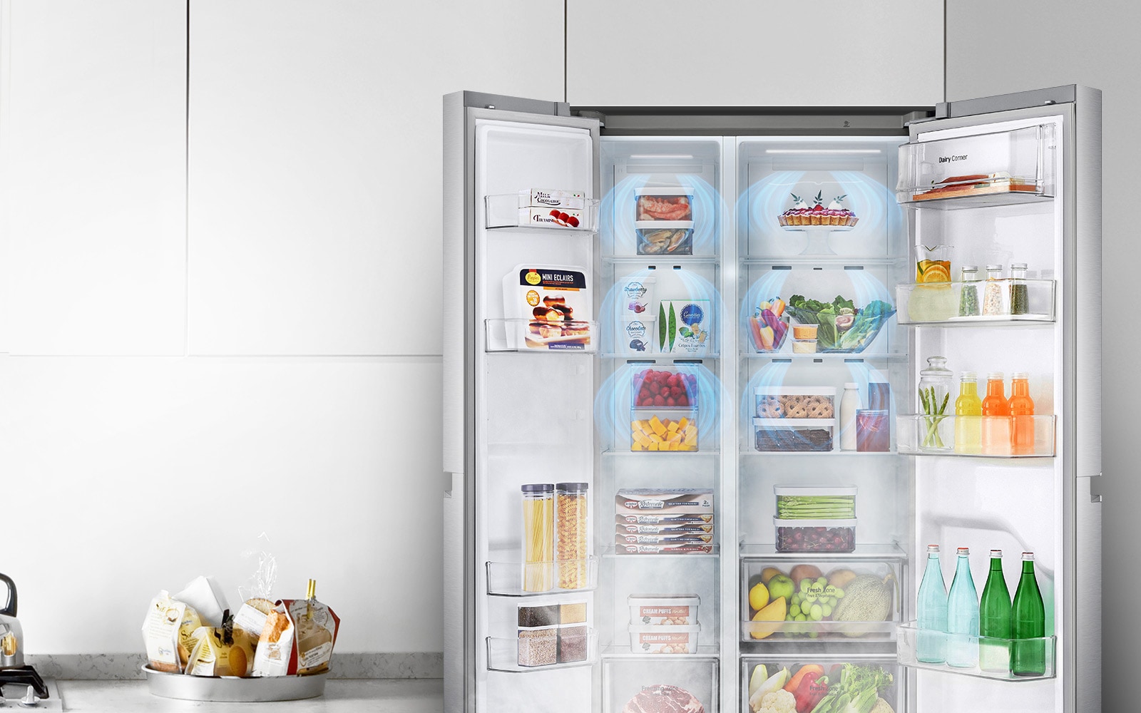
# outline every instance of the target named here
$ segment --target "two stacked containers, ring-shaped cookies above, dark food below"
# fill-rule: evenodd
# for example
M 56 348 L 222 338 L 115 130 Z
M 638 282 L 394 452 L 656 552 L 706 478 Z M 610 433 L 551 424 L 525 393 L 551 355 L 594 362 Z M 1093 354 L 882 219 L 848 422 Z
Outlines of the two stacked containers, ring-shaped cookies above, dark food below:
M 756 387 L 754 395 L 758 451 L 832 451 L 835 387 Z

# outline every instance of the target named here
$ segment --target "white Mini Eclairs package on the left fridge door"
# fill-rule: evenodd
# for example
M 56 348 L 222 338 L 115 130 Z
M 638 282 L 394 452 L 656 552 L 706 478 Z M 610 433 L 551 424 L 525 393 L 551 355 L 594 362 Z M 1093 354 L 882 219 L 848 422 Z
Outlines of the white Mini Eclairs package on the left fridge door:
M 584 350 L 593 318 L 585 268 L 517 265 L 503 277 L 503 314 L 511 349 Z M 519 329 L 513 329 L 518 326 Z

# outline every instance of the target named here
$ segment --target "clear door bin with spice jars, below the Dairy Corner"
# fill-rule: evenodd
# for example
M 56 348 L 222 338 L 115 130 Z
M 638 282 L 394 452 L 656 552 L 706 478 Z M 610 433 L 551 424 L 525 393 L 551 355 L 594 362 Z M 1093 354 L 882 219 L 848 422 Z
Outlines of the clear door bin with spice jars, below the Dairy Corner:
M 1053 279 L 981 279 L 896 286 L 899 324 L 968 326 L 1054 321 Z

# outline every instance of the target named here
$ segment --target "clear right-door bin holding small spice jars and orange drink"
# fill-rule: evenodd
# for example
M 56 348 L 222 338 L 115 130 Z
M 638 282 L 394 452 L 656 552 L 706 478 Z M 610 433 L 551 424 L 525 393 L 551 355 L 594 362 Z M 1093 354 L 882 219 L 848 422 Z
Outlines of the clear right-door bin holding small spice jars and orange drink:
M 1012 315 L 1011 295 L 1014 283 L 1026 285 L 1025 314 Z M 976 303 L 986 308 L 988 292 L 997 284 L 997 309 L 1000 314 L 958 316 L 964 284 L 973 284 L 977 290 Z M 934 326 L 980 326 L 1042 324 L 1054 321 L 1053 279 L 980 279 L 974 283 L 933 282 L 896 286 L 896 305 L 899 324 Z

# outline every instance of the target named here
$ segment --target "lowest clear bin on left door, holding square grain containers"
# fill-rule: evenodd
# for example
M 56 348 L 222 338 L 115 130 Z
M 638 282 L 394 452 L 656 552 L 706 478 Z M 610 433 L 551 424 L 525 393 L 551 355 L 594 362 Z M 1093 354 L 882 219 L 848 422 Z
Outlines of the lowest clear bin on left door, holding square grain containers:
M 584 626 L 520 629 L 512 638 L 487 637 L 486 643 L 487 669 L 507 673 L 590 666 L 598 658 L 598 634 Z

